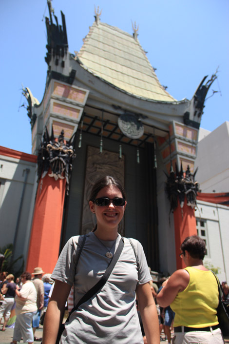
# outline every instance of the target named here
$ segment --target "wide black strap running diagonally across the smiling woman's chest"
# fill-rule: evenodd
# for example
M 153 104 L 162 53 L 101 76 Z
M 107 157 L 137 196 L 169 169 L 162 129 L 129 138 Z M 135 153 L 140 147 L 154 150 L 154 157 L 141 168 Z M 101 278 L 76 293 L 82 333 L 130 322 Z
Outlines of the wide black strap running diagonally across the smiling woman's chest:
M 100 278 L 100 280 L 90 289 L 88 290 L 88 292 L 79 300 L 79 302 L 76 304 L 75 307 L 73 307 L 73 309 L 71 310 L 69 316 L 68 316 L 68 319 L 66 320 L 69 321 L 69 318 L 70 318 L 70 315 L 83 303 L 85 303 L 86 301 L 88 301 L 89 299 L 91 299 L 91 297 L 93 295 L 95 295 L 99 289 L 101 289 L 104 284 L 107 282 L 109 276 L 111 275 L 112 273 L 112 270 L 114 269 L 115 267 L 115 264 L 117 263 L 118 261 L 118 258 L 120 257 L 120 254 L 122 253 L 122 249 L 123 249 L 123 246 L 124 246 L 124 240 L 123 238 L 120 239 L 120 242 L 118 244 L 118 248 L 116 249 L 115 251 L 115 254 L 111 260 L 111 262 L 109 263 L 105 273 L 103 274 L 103 276 Z

